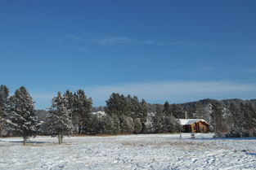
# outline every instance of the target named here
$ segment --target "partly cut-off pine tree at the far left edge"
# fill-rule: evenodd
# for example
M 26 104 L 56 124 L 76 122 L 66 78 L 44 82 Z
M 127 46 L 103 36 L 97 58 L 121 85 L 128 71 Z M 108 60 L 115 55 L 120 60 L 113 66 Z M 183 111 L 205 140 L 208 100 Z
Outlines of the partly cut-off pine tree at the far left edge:
M 2 137 L 2 130 L 5 125 L 5 118 L 7 116 L 7 100 L 10 90 L 6 85 L 0 86 L 0 137 Z

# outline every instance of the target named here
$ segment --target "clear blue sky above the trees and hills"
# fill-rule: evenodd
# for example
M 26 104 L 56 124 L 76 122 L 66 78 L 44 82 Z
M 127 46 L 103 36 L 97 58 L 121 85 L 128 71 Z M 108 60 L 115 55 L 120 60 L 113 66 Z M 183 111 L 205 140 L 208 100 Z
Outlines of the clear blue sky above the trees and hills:
M 256 98 L 256 1 L 0 2 L 0 84 L 36 108 L 84 89 L 147 102 Z

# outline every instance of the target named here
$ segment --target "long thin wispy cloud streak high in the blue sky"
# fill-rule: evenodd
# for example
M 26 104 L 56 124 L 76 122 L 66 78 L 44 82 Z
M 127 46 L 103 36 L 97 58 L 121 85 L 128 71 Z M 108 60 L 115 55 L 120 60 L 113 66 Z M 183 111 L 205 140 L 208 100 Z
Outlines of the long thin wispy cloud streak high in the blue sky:
M 195 47 L 209 47 L 209 48 L 219 47 L 212 43 L 199 43 L 199 42 L 189 42 L 189 41 L 138 40 L 138 39 L 132 39 L 129 37 L 116 37 L 116 36 L 103 37 L 98 39 L 88 39 L 82 36 L 69 35 L 68 38 L 74 41 L 94 43 L 101 46 L 131 44 L 131 45 L 157 45 L 157 46 L 195 46 Z

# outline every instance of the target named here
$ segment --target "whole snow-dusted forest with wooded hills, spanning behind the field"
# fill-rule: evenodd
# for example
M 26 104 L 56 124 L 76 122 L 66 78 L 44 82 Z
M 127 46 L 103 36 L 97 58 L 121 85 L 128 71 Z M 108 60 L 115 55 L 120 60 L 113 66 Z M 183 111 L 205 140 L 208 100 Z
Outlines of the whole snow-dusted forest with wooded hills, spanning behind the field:
M 73 134 L 181 133 L 178 119 L 204 119 L 218 137 L 256 137 L 256 99 L 203 99 L 186 103 L 148 103 L 137 96 L 113 93 L 105 107 L 92 107 L 83 89 L 56 93 L 52 106 L 36 110 L 21 86 L 10 96 L 0 86 L 0 136 L 29 137 Z

